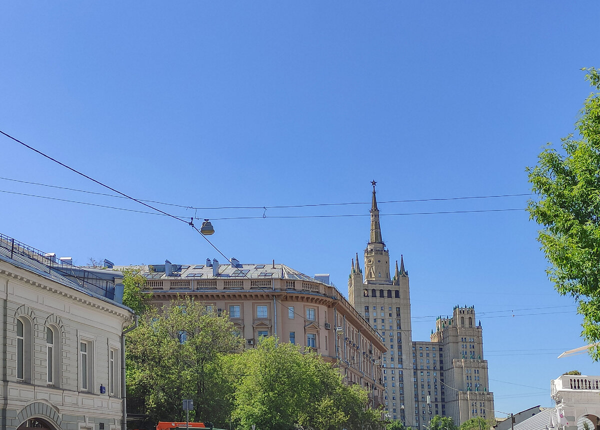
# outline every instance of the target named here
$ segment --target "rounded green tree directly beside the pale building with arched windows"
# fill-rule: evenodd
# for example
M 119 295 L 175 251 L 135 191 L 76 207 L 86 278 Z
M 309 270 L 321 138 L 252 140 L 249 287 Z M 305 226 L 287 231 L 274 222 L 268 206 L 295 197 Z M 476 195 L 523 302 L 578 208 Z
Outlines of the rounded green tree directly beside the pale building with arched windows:
M 190 420 L 229 425 L 233 385 L 227 354 L 241 350 L 227 315 L 193 299 L 151 308 L 126 344 L 128 409 L 152 422 L 185 420 L 182 399 L 193 399 Z

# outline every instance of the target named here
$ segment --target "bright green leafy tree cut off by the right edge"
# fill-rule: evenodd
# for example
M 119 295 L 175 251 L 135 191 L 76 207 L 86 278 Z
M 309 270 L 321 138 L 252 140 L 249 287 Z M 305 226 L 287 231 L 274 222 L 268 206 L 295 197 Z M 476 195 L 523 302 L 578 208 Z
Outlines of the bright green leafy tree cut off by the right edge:
M 600 91 L 600 74 L 587 70 L 586 80 Z M 587 97 L 578 119 L 578 137 L 562 139 L 562 151 L 548 146 L 538 165 L 528 167 L 532 191 L 530 218 L 543 226 L 538 240 L 551 263 L 548 277 L 556 290 L 578 301 L 583 335 L 600 341 L 600 93 Z M 600 359 L 598 345 L 590 349 Z

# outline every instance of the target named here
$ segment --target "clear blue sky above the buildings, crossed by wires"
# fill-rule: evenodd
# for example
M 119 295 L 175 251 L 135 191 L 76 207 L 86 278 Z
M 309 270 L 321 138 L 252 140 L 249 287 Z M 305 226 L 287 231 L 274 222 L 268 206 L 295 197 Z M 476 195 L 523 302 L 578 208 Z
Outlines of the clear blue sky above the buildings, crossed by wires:
M 590 92 L 580 68 L 600 65 L 599 16 L 597 1 L 3 2 L 0 130 L 125 193 L 182 206 L 368 202 L 373 179 L 381 201 L 528 193 L 525 167 L 574 131 Z M 2 178 L 106 191 L 5 137 L 0 154 Z M 0 190 L 145 210 L 6 179 Z M 269 216 L 368 215 L 368 205 L 265 214 L 214 221 L 211 240 L 242 263 L 331 273 L 347 292 L 368 216 Z M 497 410 L 551 405 L 562 372 L 600 374 L 587 356 L 556 359 L 584 344 L 581 321 L 547 281 L 526 212 L 382 216 L 382 229 L 410 273 L 413 339 L 455 304 L 475 305 Z M 0 231 L 79 264 L 223 261 L 165 216 L 4 192 Z

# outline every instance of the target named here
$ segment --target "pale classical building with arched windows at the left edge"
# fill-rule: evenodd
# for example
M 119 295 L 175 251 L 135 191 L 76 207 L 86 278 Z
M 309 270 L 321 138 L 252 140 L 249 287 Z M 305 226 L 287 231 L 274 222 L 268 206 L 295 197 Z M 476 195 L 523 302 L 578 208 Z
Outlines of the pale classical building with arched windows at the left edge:
M 124 429 L 122 275 L 0 234 L 0 428 Z

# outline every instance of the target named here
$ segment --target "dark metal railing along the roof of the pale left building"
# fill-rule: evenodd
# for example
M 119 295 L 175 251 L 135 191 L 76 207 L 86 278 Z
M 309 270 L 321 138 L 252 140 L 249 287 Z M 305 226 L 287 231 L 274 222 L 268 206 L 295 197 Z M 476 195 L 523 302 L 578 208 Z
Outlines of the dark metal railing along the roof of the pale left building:
M 81 287 L 86 288 L 96 294 L 100 294 L 107 299 L 115 299 L 115 283 L 109 279 L 103 279 L 89 270 L 82 269 L 67 261 L 56 258 L 54 254 L 35 249 L 32 246 L 19 242 L 13 237 L 0 233 L 0 254 L 11 260 L 20 261 L 41 272 L 67 278 L 76 282 Z

